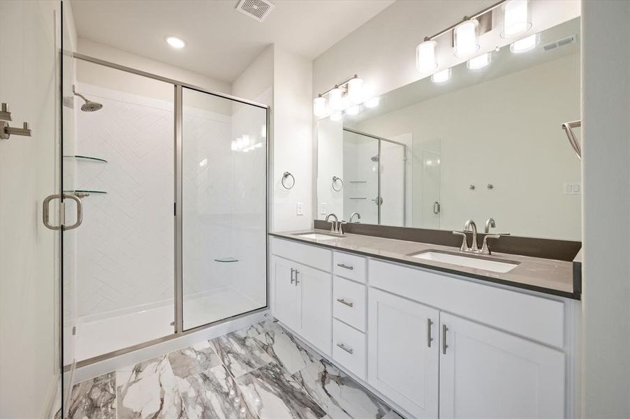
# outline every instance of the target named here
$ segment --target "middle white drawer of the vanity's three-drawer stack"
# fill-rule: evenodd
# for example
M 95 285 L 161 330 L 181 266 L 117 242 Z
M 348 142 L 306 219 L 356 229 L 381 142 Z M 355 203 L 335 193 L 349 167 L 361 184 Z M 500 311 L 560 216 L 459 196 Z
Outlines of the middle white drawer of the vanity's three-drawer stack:
M 365 332 L 367 287 L 337 277 L 332 281 L 332 316 Z

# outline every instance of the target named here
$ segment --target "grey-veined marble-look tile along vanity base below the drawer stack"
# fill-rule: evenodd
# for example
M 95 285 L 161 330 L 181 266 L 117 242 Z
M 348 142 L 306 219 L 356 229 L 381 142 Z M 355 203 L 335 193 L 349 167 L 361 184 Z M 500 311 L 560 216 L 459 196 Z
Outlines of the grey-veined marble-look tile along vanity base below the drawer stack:
M 390 411 L 379 398 L 326 360 L 310 362 L 293 378 L 333 419 L 380 419 Z

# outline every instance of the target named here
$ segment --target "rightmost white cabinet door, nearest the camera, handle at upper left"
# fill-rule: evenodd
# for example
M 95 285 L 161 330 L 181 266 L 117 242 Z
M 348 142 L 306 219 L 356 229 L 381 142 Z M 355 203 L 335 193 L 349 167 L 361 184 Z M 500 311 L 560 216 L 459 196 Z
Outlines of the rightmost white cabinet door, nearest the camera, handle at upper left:
M 450 314 L 440 321 L 440 418 L 564 417 L 564 353 Z

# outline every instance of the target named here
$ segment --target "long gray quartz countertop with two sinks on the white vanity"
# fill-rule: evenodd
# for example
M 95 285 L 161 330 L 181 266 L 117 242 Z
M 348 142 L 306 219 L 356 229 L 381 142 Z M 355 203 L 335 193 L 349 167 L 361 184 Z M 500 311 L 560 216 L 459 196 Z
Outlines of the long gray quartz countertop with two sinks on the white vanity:
M 580 287 L 576 286 L 573 277 L 573 263 L 566 260 L 532 258 L 508 253 L 492 253 L 491 256 L 472 256 L 469 253 L 458 253 L 459 249 L 455 247 L 350 233 L 344 234 L 343 237 L 334 237 L 330 240 L 314 240 L 300 237 L 301 234 L 307 233 L 330 234 L 330 232 L 326 230 L 299 230 L 269 234 L 273 237 L 314 244 L 328 249 L 351 251 L 363 256 L 374 256 L 407 265 L 424 267 L 451 274 L 460 274 L 464 277 L 472 277 L 498 284 L 515 286 L 517 288 L 539 291 L 541 293 L 559 295 L 575 300 L 580 299 Z M 413 258 L 410 256 L 427 250 L 461 254 L 462 256 L 504 260 L 506 262 L 518 263 L 518 265 L 510 272 L 497 273 L 460 265 L 452 265 L 450 263 Z

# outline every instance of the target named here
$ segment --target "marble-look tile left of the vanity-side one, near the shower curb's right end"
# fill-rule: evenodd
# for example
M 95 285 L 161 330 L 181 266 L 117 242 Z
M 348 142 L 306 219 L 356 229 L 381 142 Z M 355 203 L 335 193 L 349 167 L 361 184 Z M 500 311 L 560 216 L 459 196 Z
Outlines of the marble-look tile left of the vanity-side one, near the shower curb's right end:
M 234 378 L 272 361 L 256 339 L 243 337 L 237 332 L 212 339 L 210 344 Z

